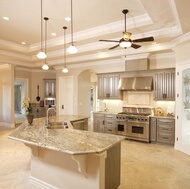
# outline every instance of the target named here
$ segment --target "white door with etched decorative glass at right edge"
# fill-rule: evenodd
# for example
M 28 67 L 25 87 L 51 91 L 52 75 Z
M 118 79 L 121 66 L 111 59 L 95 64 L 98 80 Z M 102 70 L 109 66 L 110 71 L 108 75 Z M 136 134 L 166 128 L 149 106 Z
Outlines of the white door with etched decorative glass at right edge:
M 175 148 L 190 155 L 190 62 L 177 66 Z

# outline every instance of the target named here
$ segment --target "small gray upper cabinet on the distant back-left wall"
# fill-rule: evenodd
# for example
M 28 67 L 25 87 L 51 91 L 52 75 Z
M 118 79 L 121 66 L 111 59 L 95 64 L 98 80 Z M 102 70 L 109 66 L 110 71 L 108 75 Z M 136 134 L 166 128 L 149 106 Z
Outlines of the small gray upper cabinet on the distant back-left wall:
M 44 79 L 44 97 L 56 97 L 56 80 Z

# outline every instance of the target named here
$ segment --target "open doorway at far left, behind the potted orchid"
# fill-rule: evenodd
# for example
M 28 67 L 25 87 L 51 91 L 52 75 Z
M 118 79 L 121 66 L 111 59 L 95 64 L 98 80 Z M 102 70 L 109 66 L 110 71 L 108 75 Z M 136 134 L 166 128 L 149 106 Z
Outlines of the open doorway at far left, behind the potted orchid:
M 25 110 L 22 109 L 22 99 L 28 96 L 28 79 L 16 78 L 14 81 L 14 117 L 15 123 L 25 120 Z

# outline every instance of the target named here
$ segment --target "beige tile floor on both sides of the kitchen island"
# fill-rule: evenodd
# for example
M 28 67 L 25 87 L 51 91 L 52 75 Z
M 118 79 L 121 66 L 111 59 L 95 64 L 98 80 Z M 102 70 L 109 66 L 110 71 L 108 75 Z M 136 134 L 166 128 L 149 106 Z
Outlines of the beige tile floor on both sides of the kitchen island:
M 37 189 L 29 183 L 30 149 L 0 127 L 0 189 Z M 122 141 L 119 189 L 189 189 L 190 156 L 161 144 Z

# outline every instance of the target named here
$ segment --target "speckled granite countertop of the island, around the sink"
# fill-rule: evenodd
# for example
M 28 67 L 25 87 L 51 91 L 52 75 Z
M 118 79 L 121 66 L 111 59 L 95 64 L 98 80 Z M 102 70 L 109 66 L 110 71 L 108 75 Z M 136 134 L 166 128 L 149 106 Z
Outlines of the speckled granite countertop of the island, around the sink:
M 10 139 L 68 154 L 101 153 L 124 139 L 122 136 L 73 129 L 70 121 L 87 119 L 84 116 L 55 116 L 50 121 L 67 122 L 67 129 L 47 129 L 45 118 L 27 120 L 8 136 Z

